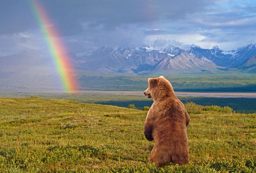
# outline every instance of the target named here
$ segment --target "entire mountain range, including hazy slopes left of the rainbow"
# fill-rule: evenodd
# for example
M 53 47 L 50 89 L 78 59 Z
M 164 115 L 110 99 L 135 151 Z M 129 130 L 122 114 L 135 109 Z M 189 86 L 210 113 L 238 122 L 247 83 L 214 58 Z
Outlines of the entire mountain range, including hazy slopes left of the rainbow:
M 76 78 L 86 86 L 88 76 L 113 75 L 255 75 L 256 44 L 236 51 L 174 46 L 100 47 L 83 56 L 69 53 Z M 87 76 L 87 77 L 84 77 Z M 95 79 L 97 80 L 97 79 Z M 0 92 L 62 88 L 59 73 L 47 52 L 26 50 L 0 56 Z

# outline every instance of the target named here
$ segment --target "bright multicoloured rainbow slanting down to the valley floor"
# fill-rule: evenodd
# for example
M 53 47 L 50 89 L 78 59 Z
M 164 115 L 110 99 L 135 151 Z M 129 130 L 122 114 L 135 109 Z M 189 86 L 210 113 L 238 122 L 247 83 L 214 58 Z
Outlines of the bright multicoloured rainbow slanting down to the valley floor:
M 30 2 L 30 6 L 53 58 L 54 65 L 61 78 L 63 89 L 68 93 L 74 93 L 78 90 L 75 71 L 58 32 L 43 6 L 37 0 L 31 0 Z

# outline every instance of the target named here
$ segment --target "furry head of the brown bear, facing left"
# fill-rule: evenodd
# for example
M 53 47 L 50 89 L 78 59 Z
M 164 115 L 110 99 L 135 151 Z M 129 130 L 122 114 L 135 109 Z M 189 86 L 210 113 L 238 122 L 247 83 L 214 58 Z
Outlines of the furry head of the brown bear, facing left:
M 159 76 L 159 78 L 148 78 L 148 88 L 144 91 L 144 95 L 152 98 L 153 101 L 175 96 L 172 84 L 163 76 Z

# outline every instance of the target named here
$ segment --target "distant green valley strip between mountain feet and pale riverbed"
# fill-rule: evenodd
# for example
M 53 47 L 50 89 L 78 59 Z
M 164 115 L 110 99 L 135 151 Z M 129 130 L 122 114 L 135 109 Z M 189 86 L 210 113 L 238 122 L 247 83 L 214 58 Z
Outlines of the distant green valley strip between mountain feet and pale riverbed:
M 161 75 L 172 83 L 175 91 L 256 92 L 255 75 L 177 76 L 176 73 L 173 76 Z M 158 76 L 84 75 L 79 79 L 79 83 L 82 90 L 144 91 L 148 85 L 147 79 Z

